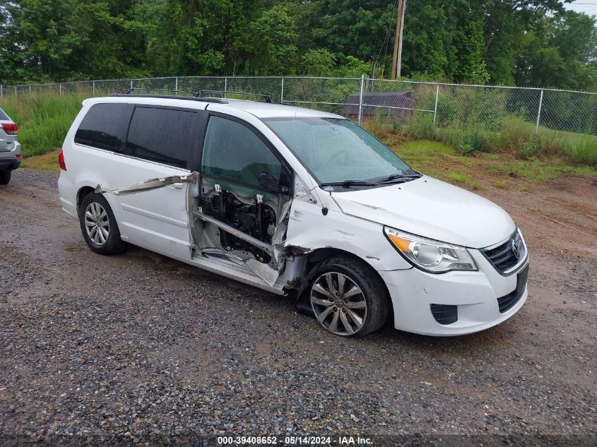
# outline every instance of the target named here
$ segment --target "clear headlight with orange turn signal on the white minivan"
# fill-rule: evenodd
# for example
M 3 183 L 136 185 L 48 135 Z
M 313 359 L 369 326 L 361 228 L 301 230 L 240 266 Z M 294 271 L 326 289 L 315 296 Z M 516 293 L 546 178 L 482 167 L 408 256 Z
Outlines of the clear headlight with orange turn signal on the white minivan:
M 398 253 L 413 266 L 426 272 L 477 270 L 473 257 L 463 246 L 425 239 L 391 227 L 384 227 L 384 233 Z

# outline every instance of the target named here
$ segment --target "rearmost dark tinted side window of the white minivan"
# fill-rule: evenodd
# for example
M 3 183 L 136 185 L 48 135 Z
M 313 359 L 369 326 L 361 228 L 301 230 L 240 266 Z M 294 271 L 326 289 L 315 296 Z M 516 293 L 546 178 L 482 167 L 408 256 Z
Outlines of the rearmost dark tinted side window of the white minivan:
M 133 106 L 96 104 L 91 106 L 75 135 L 75 143 L 122 152 Z

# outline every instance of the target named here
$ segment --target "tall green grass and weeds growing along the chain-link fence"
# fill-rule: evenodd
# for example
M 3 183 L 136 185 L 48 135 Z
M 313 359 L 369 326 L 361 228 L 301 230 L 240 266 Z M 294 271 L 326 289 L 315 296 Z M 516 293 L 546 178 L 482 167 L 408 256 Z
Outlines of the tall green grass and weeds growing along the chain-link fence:
M 83 99 L 82 95 L 47 94 L 0 98 L 0 107 L 19 126 L 24 167 L 59 170 L 56 148 Z M 492 176 L 492 186 L 505 182 L 504 186 L 522 191 L 529 187 L 525 182 L 597 175 L 596 136 L 545 128 L 535 135 L 533 124 L 518 117 L 496 115 L 493 120 L 491 129 L 458 122 L 436 127 L 429 114 L 415 114 L 406 122 L 379 115 L 363 126 L 415 169 L 472 189 L 485 186 L 476 178 L 478 172 Z M 514 180 L 520 184 L 512 185 Z

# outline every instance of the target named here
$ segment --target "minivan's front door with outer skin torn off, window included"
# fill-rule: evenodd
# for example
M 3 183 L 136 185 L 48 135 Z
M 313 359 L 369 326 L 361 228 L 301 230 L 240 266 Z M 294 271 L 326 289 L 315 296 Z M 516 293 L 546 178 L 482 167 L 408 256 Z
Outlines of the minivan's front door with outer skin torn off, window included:
M 290 198 L 290 169 L 266 138 L 240 119 L 211 114 L 201 179 L 202 213 L 223 224 L 218 227 L 218 248 L 277 269 L 269 247 Z

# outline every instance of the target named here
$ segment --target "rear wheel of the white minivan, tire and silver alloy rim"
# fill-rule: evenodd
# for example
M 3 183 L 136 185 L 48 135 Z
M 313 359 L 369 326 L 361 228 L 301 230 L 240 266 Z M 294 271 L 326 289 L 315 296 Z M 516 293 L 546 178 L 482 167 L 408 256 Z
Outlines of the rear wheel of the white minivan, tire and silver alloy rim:
M 112 255 L 126 249 L 112 208 L 101 194 L 89 193 L 83 198 L 79 207 L 79 223 L 83 239 L 95 253 Z

